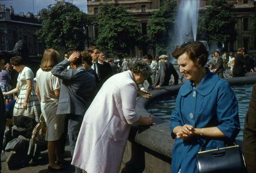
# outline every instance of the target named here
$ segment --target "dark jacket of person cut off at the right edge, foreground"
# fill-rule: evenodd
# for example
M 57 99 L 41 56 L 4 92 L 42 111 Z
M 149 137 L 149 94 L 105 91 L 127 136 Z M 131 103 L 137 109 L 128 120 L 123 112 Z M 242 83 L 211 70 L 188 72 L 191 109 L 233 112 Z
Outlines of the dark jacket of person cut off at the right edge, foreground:
M 248 173 L 256 173 L 256 84 L 244 119 L 243 151 Z

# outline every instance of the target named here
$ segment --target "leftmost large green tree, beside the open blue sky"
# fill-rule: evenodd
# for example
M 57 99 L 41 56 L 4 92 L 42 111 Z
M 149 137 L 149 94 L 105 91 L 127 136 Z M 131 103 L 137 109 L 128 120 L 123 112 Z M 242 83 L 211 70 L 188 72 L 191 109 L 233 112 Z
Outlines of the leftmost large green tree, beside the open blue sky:
M 37 31 L 37 34 L 46 48 L 84 49 L 86 39 L 84 28 L 88 24 L 88 18 L 78 7 L 70 3 L 58 3 L 48 6 L 48 10 L 41 10 L 39 16 L 44 26 Z

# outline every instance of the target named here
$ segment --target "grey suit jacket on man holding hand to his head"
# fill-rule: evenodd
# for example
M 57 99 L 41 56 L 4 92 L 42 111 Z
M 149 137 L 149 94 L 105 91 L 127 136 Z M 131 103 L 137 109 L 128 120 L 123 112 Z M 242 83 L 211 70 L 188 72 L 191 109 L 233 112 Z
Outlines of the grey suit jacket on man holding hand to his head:
M 90 106 L 90 95 L 95 87 L 95 79 L 84 67 L 67 70 L 70 62 L 64 59 L 52 68 L 52 75 L 62 79 L 60 98 L 56 114 L 84 116 Z

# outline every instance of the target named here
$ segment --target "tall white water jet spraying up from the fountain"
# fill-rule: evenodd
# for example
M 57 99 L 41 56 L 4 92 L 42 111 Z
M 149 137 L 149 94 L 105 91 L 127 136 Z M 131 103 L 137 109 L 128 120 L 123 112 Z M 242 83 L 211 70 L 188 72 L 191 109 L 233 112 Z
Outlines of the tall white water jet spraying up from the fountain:
M 181 0 L 175 19 L 176 45 L 183 42 L 196 41 L 198 9 L 200 0 Z

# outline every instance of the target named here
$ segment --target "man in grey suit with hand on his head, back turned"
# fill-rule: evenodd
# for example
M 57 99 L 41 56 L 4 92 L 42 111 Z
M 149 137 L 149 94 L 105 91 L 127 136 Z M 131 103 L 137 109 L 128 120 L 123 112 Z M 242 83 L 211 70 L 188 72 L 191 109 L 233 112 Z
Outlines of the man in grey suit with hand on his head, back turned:
M 69 65 L 71 68 L 67 69 Z M 90 106 L 90 94 L 95 87 L 95 79 L 82 66 L 79 52 L 72 53 L 69 59 L 54 66 L 52 74 L 62 79 L 56 114 L 67 114 L 70 152 L 73 156 L 84 114 Z M 78 172 L 82 171 L 76 167 L 76 173 Z

